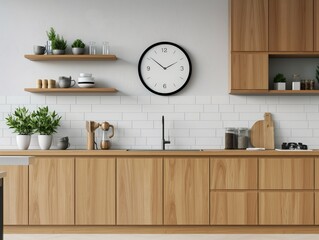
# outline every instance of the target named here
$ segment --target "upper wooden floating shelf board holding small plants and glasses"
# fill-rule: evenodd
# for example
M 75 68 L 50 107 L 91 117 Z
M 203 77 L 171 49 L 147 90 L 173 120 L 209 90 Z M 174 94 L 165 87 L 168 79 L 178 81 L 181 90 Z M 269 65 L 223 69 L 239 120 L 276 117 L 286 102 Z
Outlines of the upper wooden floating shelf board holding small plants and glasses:
M 31 61 L 115 61 L 115 55 L 24 55 Z

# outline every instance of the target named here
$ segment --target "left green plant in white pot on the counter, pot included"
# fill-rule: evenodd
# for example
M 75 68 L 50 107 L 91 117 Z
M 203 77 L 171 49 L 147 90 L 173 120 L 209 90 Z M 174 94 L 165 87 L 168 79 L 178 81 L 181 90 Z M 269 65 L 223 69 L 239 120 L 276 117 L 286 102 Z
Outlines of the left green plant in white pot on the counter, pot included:
M 17 135 L 17 145 L 21 150 L 27 150 L 30 146 L 31 135 L 34 133 L 34 125 L 31 113 L 25 107 L 18 107 L 13 114 L 6 118 L 7 125 L 14 129 Z

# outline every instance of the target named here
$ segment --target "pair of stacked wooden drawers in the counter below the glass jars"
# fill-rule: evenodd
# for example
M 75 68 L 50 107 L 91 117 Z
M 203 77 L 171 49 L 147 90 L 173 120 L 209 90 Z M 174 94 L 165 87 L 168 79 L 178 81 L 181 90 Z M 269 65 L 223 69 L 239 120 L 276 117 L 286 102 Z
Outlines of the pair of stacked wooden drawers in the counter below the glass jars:
M 257 158 L 211 158 L 210 224 L 257 225 Z

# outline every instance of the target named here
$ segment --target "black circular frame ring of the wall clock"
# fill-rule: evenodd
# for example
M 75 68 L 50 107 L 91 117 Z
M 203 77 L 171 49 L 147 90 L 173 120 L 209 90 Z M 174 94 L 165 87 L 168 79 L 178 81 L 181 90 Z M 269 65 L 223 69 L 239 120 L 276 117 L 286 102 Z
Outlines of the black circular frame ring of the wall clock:
M 150 50 L 152 49 L 153 47 L 156 47 L 158 45 L 162 45 L 162 44 L 168 44 L 168 45 L 172 45 L 172 46 L 175 46 L 177 48 L 179 48 L 186 56 L 188 62 L 189 62 L 189 74 L 188 74 L 188 77 L 187 77 L 187 80 L 185 81 L 185 83 L 183 84 L 183 86 L 181 86 L 179 89 L 177 89 L 176 91 L 173 91 L 173 92 L 169 92 L 169 93 L 161 93 L 161 92 L 157 92 L 155 91 L 154 89 L 151 89 L 144 81 L 143 77 L 142 77 L 142 73 L 141 73 L 141 63 L 142 63 L 142 60 L 145 56 L 145 54 Z M 141 55 L 140 57 L 140 60 L 138 62 L 138 75 L 140 77 L 140 80 L 142 82 L 142 84 L 144 85 L 144 87 L 146 87 L 150 92 L 152 93 L 155 93 L 157 95 L 161 95 L 161 96 L 168 96 L 168 95 L 173 95 L 179 91 L 181 91 L 189 82 L 189 79 L 192 75 L 192 62 L 191 62 L 191 59 L 190 57 L 188 56 L 187 52 L 185 51 L 184 48 L 182 48 L 181 46 L 177 45 L 176 43 L 172 43 L 172 42 L 157 42 L 157 43 L 154 43 L 153 45 L 149 46 Z

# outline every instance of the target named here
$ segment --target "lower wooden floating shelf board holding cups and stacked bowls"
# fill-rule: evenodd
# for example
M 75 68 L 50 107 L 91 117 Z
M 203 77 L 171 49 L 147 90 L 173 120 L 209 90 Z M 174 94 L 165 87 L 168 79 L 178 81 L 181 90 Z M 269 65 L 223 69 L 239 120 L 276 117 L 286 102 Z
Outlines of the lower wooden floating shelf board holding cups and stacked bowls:
M 31 93 L 115 93 L 115 88 L 25 88 Z

